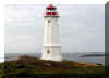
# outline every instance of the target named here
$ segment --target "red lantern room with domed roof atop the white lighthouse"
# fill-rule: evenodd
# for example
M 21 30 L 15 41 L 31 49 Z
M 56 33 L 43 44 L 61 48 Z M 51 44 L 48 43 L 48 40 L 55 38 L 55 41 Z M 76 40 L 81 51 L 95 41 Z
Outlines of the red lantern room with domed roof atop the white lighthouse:
M 57 10 L 56 6 L 53 6 L 52 4 L 49 4 L 49 6 L 46 8 L 46 15 L 51 15 L 51 16 L 58 15 L 56 10 Z

